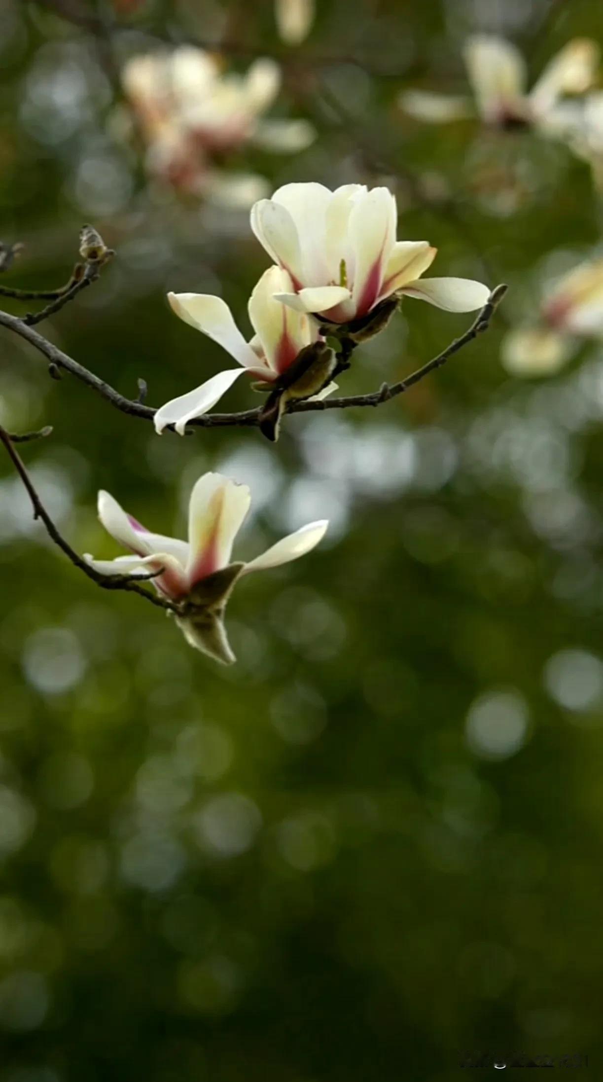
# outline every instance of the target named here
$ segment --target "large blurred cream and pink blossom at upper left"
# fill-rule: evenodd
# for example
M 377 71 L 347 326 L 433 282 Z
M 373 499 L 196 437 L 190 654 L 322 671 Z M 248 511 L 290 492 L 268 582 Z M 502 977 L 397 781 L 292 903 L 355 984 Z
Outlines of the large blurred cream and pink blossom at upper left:
M 314 130 L 304 120 L 262 121 L 280 87 L 280 69 L 259 60 L 246 75 L 224 72 L 220 60 L 183 45 L 172 52 L 131 57 L 122 83 L 147 147 L 153 175 L 197 196 L 212 195 L 240 206 L 262 190 L 233 186 L 221 168 L 228 155 L 249 143 L 285 154 L 306 147 Z M 222 185 L 222 181 L 224 182 Z

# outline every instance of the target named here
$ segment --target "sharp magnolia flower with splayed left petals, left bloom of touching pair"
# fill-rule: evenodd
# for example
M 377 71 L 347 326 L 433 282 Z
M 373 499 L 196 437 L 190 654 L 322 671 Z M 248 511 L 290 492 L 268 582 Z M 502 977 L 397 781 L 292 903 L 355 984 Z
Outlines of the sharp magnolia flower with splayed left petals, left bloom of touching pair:
M 264 390 L 276 388 L 276 384 L 280 385 L 284 380 L 287 382 L 287 373 L 306 347 L 314 346 L 314 359 L 324 364 L 322 370 L 315 373 L 316 385 L 309 388 L 304 384 L 299 388 L 300 396 L 319 394 L 324 397 L 333 390 L 333 385 L 329 385 L 329 374 L 335 367 L 335 358 L 332 351 L 324 346 L 317 325 L 305 313 L 293 312 L 275 300 L 275 293 L 288 292 L 292 288 L 287 270 L 268 267 L 264 272 L 249 299 L 249 319 L 254 330 L 250 342 L 245 341 L 228 305 L 221 298 L 208 293 L 168 293 L 176 316 L 223 346 L 239 367 L 218 372 L 194 391 L 161 406 L 154 418 L 157 433 L 161 434 L 168 424 L 173 424 L 175 431 L 184 435 L 186 423 L 215 406 L 244 372 L 260 380 Z M 294 395 L 293 387 L 287 391 L 289 395 Z M 284 408 L 285 400 L 280 406 Z M 272 438 L 276 436 L 278 415 Z

